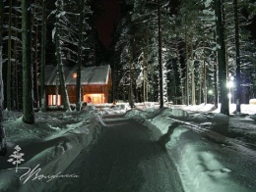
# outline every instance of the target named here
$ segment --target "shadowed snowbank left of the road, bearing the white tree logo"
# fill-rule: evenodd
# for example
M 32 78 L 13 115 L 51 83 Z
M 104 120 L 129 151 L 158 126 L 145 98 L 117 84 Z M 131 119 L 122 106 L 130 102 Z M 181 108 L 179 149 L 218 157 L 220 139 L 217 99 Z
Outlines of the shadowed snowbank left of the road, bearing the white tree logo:
M 61 175 L 61 172 L 83 149 L 96 142 L 104 124 L 96 109 L 88 107 L 81 112 L 37 113 L 33 125 L 25 124 L 21 118 L 7 120 L 4 125 L 8 133 L 8 154 L 1 157 L 0 191 L 43 191 L 45 184 L 48 187 L 54 184 L 47 182 L 54 175 L 70 179 L 79 176 L 75 172 L 70 175 Z M 21 147 L 26 160 L 17 172 L 8 162 L 16 145 Z

